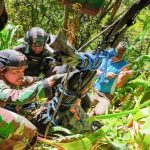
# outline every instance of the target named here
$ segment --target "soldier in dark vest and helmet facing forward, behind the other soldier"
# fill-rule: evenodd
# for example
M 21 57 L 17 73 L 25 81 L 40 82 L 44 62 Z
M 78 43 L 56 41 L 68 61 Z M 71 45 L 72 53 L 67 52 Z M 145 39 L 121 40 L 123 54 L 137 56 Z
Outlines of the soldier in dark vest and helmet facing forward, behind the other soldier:
M 24 40 L 23 45 L 16 46 L 14 49 L 22 52 L 28 59 L 25 75 L 38 77 L 43 73 L 48 77 L 48 71 L 53 69 L 53 66 L 48 66 L 44 59 L 51 55 L 48 44 L 54 40 L 54 36 L 49 35 L 42 28 L 33 27 L 26 32 Z

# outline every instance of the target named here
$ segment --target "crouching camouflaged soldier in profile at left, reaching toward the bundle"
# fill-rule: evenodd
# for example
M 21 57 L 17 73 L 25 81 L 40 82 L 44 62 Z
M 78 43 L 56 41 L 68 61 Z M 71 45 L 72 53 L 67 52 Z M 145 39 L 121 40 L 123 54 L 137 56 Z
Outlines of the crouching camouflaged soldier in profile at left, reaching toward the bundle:
M 4 109 L 6 104 L 23 105 L 35 99 L 51 97 L 54 79 L 47 78 L 29 87 L 24 84 L 27 58 L 14 50 L 0 51 L 0 147 L 1 149 L 33 147 L 36 128 L 24 117 Z M 7 144 L 6 144 L 7 143 Z M 23 148 L 22 148 L 23 149 Z

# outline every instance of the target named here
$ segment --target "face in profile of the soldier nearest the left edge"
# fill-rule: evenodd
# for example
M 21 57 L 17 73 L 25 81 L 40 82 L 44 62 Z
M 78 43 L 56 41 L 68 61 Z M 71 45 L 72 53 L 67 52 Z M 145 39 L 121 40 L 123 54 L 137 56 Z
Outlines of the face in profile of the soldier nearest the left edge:
M 5 79 L 12 85 L 19 86 L 22 85 L 24 79 L 24 71 L 26 66 L 8 68 L 4 73 Z

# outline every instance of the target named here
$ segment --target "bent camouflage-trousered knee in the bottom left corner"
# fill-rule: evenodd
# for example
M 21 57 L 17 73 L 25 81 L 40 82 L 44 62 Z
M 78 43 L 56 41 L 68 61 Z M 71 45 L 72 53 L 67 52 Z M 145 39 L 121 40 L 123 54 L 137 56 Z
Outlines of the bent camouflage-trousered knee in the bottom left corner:
M 0 108 L 0 149 L 32 149 L 37 141 L 36 127 L 26 118 Z

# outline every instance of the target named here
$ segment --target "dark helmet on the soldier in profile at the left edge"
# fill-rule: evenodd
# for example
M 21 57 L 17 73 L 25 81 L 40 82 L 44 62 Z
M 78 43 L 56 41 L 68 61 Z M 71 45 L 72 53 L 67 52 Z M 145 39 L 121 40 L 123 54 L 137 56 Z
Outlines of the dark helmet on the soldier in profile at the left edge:
M 0 69 L 20 66 L 27 67 L 27 58 L 24 54 L 15 50 L 0 51 Z

